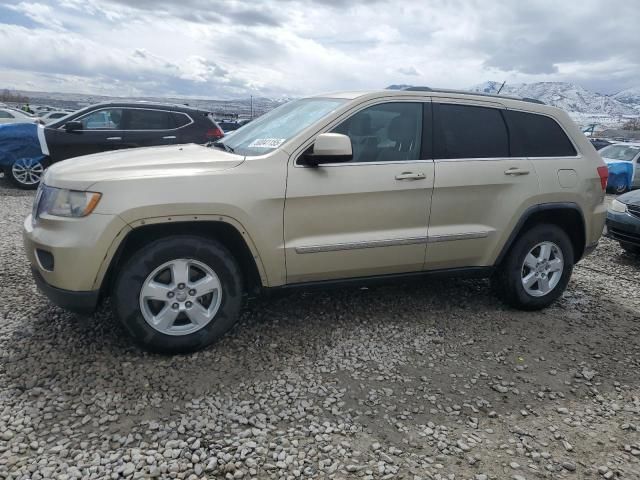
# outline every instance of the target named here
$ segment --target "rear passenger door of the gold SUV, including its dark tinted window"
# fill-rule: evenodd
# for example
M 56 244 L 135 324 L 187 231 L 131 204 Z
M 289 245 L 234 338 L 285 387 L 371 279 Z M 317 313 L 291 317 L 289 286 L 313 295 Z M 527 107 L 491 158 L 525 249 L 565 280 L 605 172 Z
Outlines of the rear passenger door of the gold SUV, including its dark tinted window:
M 425 269 L 490 265 L 514 215 L 538 193 L 510 156 L 502 105 L 434 99 L 435 183 Z

